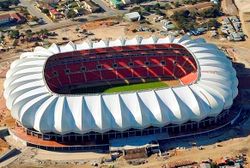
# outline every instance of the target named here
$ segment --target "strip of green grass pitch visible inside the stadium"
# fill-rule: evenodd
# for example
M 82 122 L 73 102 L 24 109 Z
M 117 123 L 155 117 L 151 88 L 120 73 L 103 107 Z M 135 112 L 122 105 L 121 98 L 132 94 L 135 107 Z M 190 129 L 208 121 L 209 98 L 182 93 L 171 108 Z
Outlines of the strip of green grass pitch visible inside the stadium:
M 138 90 L 147 90 L 147 89 L 156 89 L 167 87 L 168 85 L 165 82 L 147 82 L 147 83 L 137 83 L 131 85 L 123 86 L 114 86 L 103 91 L 103 93 L 115 93 L 115 92 L 126 92 L 126 91 L 138 91 Z

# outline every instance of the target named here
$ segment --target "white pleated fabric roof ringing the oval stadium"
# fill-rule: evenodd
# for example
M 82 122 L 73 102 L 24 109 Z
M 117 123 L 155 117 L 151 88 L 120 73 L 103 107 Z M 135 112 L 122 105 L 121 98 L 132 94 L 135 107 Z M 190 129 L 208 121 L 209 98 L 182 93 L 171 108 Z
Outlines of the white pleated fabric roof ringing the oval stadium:
M 195 58 L 198 80 L 190 85 L 99 95 L 58 95 L 43 76 L 47 59 L 57 53 L 107 46 L 176 43 Z M 236 72 L 226 55 L 203 39 L 167 37 L 102 41 L 37 47 L 11 64 L 4 82 L 4 97 L 12 116 L 39 132 L 66 134 L 124 131 L 200 121 L 229 109 L 238 94 Z

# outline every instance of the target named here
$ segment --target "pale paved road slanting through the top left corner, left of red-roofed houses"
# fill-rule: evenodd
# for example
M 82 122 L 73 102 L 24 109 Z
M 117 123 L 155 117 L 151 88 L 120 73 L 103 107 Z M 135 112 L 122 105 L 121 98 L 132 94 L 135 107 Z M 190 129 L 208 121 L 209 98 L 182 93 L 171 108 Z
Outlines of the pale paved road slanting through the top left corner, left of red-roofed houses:
M 20 5 L 27 7 L 28 11 L 31 15 L 36 16 L 38 18 L 43 18 L 46 23 L 53 23 L 44 13 L 42 13 L 39 9 L 35 7 L 35 3 L 32 0 L 20 0 Z

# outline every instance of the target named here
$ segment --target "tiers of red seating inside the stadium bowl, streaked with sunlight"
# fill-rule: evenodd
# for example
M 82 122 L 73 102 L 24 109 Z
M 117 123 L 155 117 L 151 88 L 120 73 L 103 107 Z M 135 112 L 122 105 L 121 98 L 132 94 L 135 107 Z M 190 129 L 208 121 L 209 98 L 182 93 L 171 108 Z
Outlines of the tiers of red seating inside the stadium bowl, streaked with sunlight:
M 151 77 L 176 77 L 186 84 L 192 82 L 195 77 L 190 74 L 197 70 L 194 58 L 177 44 L 119 46 L 63 53 L 49 58 L 45 66 L 45 78 L 52 90 L 100 80 L 112 82 Z M 190 77 L 185 78 L 187 75 Z

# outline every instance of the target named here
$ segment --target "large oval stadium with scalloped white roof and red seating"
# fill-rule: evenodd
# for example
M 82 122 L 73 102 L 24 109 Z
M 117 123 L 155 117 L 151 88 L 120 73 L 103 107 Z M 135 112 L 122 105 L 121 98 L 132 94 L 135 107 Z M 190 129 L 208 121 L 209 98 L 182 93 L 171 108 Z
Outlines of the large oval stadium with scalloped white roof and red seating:
M 136 37 L 36 47 L 11 64 L 4 97 L 17 137 L 82 149 L 226 125 L 237 86 L 230 59 L 204 39 Z

